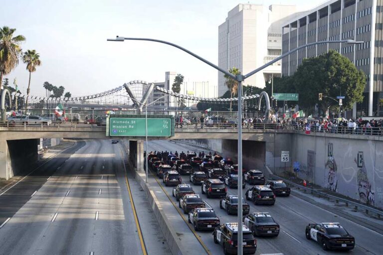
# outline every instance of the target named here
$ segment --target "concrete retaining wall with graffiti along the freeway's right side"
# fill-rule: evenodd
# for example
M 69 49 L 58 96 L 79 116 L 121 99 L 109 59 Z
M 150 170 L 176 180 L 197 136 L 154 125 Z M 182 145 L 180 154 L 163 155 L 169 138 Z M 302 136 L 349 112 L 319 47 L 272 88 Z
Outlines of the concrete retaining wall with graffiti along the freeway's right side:
M 382 140 L 297 134 L 291 150 L 300 178 L 383 208 Z

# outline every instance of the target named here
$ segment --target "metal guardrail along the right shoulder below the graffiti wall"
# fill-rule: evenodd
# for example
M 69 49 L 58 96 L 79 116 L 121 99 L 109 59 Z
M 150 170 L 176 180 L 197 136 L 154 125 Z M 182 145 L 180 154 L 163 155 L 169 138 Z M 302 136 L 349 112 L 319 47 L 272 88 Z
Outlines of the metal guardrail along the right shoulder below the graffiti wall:
M 280 176 L 277 176 L 275 174 L 271 174 L 270 178 L 284 181 L 289 186 L 297 187 L 298 189 L 302 189 L 305 192 L 306 191 L 310 191 L 311 194 L 316 194 L 319 197 L 325 197 L 325 198 L 328 198 L 328 199 L 334 199 L 336 203 L 339 203 L 339 202 L 345 203 L 345 205 L 347 207 L 349 205 L 352 205 L 352 206 L 354 206 L 355 210 L 362 209 L 362 210 L 364 210 L 366 212 L 366 214 L 369 214 L 370 212 L 371 213 L 375 213 L 379 219 L 381 219 L 381 216 L 383 216 L 383 210 L 379 210 L 379 209 L 373 208 L 371 206 L 364 205 L 364 204 L 361 204 L 361 203 L 358 203 L 358 202 L 354 202 L 354 201 L 351 201 L 351 200 L 348 200 L 348 199 L 344 199 L 344 198 L 340 198 L 340 197 L 337 197 L 337 196 L 333 196 L 333 195 L 327 194 L 327 193 L 322 192 L 322 191 L 314 190 L 312 188 L 304 187 L 302 185 L 296 184 L 296 183 L 294 183 L 292 181 L 289 181 L 289 180 L 287 180 L 285 178 L 282 178 Z

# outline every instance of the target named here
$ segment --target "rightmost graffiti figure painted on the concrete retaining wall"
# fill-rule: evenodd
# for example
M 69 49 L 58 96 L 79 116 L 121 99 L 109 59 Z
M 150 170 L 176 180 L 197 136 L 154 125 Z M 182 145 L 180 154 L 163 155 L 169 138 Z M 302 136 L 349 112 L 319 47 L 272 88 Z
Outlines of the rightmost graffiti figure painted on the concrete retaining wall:
M 355 158 L 354 161 L 355 163 L 357 163 L 357 166 L 359 168 L 357 172 L 359 199 L 363 203 L 374 205 L 375 194 L 367 175 L 367 169 L 366 169 L 366 164 L 363 157 L 363 151 L 358 152 L 358 159 Z

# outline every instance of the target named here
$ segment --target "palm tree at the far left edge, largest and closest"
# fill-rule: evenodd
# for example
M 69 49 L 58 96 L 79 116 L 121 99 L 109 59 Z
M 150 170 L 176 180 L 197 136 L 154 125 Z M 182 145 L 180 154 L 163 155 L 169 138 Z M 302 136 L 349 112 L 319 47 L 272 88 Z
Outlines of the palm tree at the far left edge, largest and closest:
M 19 43 L 25 41 L 22 35 L 13 36 L 16 29 L 7 26 L 0 27 L 0 81 L 2 76 L 10 73 L 18 64 L 21 55 Z M 0 90 L 2 84 L 0 82 Z

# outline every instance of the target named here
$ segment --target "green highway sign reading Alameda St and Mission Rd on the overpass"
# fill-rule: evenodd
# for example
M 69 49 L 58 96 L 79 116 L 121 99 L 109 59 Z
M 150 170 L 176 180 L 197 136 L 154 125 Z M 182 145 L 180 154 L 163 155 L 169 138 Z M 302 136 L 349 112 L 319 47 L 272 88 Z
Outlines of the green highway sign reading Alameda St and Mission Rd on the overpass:
M 110 136 L 145 136 L 145 118 L 110 118 Z M 148 118 L 148 136 L 171 136 L 170 118 Z

